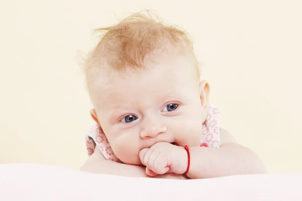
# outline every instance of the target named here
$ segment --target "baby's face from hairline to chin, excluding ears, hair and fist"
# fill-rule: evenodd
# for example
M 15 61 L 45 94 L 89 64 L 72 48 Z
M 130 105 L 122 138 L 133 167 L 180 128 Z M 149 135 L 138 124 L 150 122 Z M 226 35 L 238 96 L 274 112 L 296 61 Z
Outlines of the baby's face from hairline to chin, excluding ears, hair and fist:
M 127 164 L 141 165 L 138 152 L 158 142 L 197 146 L 202 134 L 206 109 L 195 63 L 178 56 L 147 67 L 116 75 L 97 94 L 100 126 Z

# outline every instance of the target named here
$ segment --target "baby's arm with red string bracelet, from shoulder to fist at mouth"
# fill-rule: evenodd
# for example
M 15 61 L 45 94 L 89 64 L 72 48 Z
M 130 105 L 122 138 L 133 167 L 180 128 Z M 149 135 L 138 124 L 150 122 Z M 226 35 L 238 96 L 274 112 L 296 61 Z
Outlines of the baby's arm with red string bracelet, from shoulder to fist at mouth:
M 266 173 L 259 157 L 250 149 L 236 143 L 233 136 L 220 129 L 219 148 L 189 147 L 189 178 L 212 178 L 239 174 Z M 150 176 L 174 172 L 184 174 L 188 167 L 188 154 L 184 147 L 159 142 L 139 151 L 142 164 Z

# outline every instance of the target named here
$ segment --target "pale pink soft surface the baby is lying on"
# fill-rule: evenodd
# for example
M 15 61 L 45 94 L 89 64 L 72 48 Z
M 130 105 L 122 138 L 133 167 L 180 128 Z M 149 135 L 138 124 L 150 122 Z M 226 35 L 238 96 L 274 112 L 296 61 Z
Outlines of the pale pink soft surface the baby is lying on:
M 0 165 L 0 200 L 302 200 L 302 173 L 170 180 Z M 88 185 L 89 184 L 89 185 Z

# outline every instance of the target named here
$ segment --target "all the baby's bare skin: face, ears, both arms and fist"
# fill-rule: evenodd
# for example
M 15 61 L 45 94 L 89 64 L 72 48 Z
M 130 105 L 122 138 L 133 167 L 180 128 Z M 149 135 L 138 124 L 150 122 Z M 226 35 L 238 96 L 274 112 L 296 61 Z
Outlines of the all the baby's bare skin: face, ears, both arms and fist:
M 219 148 L 198 147 L 208 97 L 209 85 L 199 81 L 188 55 L 117 74 L 99 86 L 91 116 L 125 164 L 106 161 L 96 149 L 81 170 L 174 179 L 265 173 L 258 156 L 221 128 Z

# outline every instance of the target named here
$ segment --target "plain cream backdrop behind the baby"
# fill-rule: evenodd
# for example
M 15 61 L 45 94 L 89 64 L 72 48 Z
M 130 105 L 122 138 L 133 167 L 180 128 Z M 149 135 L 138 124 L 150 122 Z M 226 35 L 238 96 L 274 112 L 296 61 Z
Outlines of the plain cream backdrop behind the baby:
M 84 2 L 1 2 L 0 163 L 80 168 L 92 120 L 78 51 L 93 29 L 153 9 L 191 33 L 221 127 L 269 172 L 302 171 L 300 1 Z

